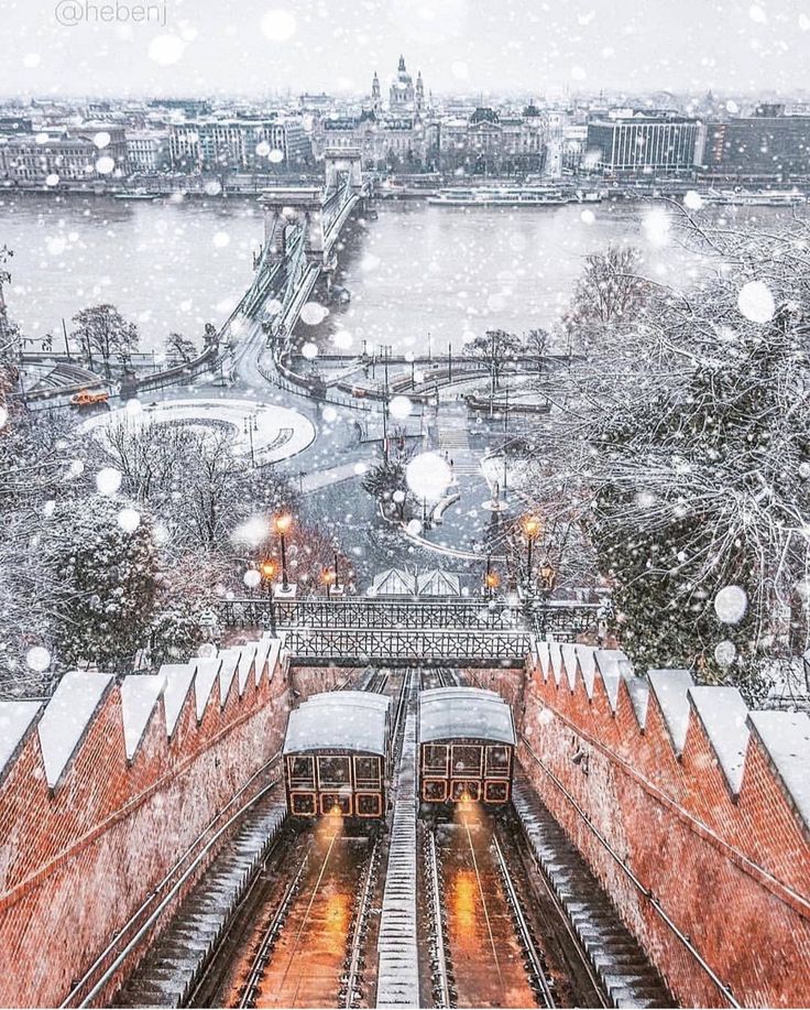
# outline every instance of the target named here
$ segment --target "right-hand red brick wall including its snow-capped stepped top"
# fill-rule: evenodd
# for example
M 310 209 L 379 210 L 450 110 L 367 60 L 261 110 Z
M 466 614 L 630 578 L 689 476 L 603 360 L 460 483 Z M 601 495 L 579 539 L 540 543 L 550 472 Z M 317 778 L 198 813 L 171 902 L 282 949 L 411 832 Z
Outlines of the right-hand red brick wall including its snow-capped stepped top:
M 519 683 L 469 673 L 505 697 Z M 543 642 L 515 714 L 532 783 L 683 1006 L 730 1006 L 723 987 L 744 1006 L 810 1006 L 807 715 Z

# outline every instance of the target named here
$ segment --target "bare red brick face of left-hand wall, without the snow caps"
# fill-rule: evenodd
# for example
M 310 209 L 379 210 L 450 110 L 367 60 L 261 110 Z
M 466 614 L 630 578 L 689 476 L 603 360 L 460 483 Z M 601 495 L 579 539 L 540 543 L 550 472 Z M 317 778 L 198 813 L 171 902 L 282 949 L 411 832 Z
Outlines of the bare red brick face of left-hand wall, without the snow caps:
M 269 781 L 226 811 L 280 749 L 287 712 L 286 660 L 241 698 L 234 678 L 223 707 L 217 681 L 199 725 L 191 687 L 172 740 L 160 701 L 130 763 L 113 686 L 55 790 L 29 732 L 0 783 L 0 1006 L 65 998 L 210 822 Z

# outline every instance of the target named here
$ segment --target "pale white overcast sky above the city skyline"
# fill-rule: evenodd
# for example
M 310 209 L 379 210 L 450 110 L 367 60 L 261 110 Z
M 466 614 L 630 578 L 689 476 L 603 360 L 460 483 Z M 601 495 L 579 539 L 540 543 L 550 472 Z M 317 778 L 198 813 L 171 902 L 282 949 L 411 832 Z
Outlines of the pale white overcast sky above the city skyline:
M 790 94 L 810 66 L 807 0 L 157 0 L 132 23 L 145 2 L 0 0 L 0 94 L 365 93 L 401 52 L 441 94 Z

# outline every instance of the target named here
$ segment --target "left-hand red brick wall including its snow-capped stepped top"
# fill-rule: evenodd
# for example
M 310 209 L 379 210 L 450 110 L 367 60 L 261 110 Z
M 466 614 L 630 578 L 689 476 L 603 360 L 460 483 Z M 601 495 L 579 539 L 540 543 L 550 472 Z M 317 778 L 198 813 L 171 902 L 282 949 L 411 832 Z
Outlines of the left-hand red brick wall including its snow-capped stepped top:
M 70 673 L 44 707 L 0 703 L 0 1006 L 59 1004 L 195 839 L 267 783 L 229 806 L 287 713 L 269 640 L 120 685 Z

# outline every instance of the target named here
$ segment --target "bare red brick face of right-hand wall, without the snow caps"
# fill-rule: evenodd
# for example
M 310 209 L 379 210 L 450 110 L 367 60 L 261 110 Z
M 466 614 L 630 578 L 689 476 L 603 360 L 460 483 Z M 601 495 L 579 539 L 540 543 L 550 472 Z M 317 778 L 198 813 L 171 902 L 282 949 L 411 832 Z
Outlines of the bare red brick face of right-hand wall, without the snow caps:
M 510 699 L 522 676 L 469 674 Z M 741 1004 L 809 1007 L 807 826 L 755 735 L 733 797 L 699 719 L 690 719 L 677 757 L 653 693 L 644 730 L 624 682 L 614 712 L 599 673 L 589 698 L 581 676 L 572 691 L 565 671 L 558 685 L 530 667 L 524 703 L 515 708 L 516 716 L 523 709 L 524 769 L 679 1001 L 729 1004 L 595 833 Z M 573 763 L 578 751 L 587 762 Z

